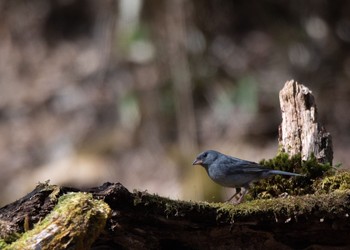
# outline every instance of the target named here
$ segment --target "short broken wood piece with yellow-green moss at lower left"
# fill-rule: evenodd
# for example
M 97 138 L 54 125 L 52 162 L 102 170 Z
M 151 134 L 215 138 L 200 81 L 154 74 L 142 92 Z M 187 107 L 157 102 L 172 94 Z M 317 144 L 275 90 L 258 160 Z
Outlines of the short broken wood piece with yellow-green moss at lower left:
M 54 210 L 5 249 L 88 249 L 103 230 L 109 206 L 87 193 L 59 198 Z

